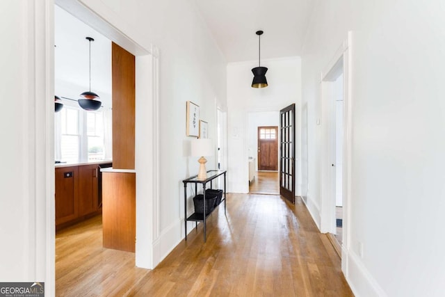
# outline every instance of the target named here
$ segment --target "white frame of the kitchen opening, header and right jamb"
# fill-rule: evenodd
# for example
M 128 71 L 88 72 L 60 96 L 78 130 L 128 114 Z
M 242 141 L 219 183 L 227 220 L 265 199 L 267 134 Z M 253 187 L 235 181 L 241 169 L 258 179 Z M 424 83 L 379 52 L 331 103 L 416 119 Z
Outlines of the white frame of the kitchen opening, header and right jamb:
M 159 263 L 159 49 L 141 45 L 95 13 L 103 3 L 56 0 L 56 4 L 136 56 L 136 266 Z M 108 15 L 118 23 L 120 17 Z M 118 23 L 119 24 L 119 23 Z M 54 22 L 49 24 L 54 31 Z M 147 116 L 149 115 L 149 116 Z M 148 128 L 148 129 L 147 129 Z

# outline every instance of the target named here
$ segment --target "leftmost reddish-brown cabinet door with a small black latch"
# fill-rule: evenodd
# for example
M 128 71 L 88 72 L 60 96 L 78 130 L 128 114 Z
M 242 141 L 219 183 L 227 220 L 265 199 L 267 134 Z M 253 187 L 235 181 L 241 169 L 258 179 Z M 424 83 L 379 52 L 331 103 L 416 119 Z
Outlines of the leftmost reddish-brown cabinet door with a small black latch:
M 56 225 L 77 218 L 77 166 L 56 168 Z

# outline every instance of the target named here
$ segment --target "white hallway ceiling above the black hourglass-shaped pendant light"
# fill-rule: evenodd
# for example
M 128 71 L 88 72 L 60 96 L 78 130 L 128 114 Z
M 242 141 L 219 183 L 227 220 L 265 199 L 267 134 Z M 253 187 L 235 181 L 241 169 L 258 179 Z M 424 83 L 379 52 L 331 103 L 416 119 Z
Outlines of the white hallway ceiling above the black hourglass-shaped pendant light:
M 313 0 L 192 0 L 227 62 L 300 56 Z

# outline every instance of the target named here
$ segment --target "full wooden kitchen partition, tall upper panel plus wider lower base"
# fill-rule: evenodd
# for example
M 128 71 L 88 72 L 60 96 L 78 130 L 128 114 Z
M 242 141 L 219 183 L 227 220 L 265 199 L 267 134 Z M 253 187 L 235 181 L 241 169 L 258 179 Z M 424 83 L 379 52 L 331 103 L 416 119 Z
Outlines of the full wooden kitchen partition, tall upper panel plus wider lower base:
M 113 168 L 102 170 L 102 228 L 104 248 L 135 251 L 135 57 L 114 42 Z

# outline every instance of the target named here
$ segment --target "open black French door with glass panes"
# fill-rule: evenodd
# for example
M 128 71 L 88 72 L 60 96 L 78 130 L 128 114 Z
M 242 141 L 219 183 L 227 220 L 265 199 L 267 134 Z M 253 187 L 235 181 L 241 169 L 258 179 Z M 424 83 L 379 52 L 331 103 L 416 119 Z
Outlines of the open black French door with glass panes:
M 280 111 L 280 195 L 295 204 L 295 104 Z

